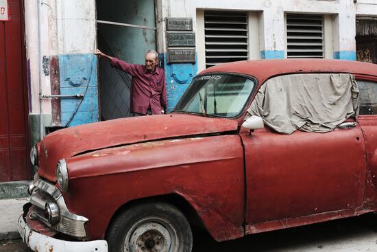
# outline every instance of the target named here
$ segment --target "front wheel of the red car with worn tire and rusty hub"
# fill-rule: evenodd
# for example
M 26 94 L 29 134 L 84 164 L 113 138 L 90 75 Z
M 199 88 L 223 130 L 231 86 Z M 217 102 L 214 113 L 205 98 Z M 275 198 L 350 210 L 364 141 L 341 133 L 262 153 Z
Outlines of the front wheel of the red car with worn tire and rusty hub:
M 108 229 L 110 252 L 191 252 L 193 234 L 182 212 L 167 203 L 142 203 L 123 211 Z

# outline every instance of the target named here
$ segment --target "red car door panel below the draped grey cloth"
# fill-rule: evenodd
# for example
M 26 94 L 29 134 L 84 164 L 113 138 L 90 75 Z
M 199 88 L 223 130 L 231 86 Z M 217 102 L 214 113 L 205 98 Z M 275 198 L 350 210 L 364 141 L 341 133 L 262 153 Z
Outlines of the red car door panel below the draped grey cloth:
M 287 220 L 362 204 L 365 143 L 358 124 L 328 133 L 296 130 L 284 135 L 265 126 L 252 133 L 241 128 L 240 134 L 245 147 L 247 233 L 260 231 L 258 227 L 269 230 L 273 220 L 282 220 L 280 226 L 286 227 Z M 262 222 L 265 225 L 256 225 Z

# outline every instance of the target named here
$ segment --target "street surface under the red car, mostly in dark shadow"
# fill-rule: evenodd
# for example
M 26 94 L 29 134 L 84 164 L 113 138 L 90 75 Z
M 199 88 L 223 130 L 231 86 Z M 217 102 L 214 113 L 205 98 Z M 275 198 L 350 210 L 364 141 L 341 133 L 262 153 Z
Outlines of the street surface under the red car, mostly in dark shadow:
M 215 242 L 195 231 L 193 252 L 354 252 L 377 251 L 377 216 L 356 218 L 257 233 L 239 240 Z M 29 252 L 20 241 L 0 242 L 0 252 Z

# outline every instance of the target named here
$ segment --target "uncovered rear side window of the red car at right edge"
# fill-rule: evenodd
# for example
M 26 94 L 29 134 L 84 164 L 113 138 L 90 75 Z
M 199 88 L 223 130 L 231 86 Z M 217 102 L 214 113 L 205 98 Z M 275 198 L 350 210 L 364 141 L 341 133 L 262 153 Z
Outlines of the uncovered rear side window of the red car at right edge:
M 360 115 L 377 115 L 377 82 L 358 80 Z

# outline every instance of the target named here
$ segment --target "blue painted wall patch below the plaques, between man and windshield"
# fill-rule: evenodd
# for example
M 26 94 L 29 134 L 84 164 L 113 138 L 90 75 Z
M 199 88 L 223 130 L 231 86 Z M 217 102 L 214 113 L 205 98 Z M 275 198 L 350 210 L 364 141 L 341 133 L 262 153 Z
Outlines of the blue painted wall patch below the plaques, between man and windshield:
M 184 91 L 197 74 L 197 55 L 195 63 L 167 64 L 167 54 L 160 54 L 167 82 L 167 111 L 173 110 Z

